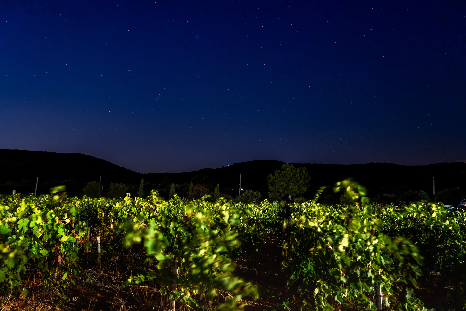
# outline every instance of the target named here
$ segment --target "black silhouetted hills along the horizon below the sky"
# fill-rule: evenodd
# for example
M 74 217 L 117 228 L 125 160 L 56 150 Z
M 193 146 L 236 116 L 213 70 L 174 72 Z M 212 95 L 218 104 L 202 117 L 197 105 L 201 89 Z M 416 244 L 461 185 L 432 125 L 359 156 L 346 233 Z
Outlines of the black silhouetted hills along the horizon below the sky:
M 193 181 L 208 187 L 220 184 L 222 193 L 233 197 L 241 187 L 267 194 L 267 175 L 283 164 L 276 160 L 255 160 L 235 163 L 221 168 L 204 168 L 183 173 L 138 173 L 117 166 L 109 161 L 80 153 L 56 153 L 27 150 L 0 149 L 0 193 L 11 194 L 13 189 L 21 193 L 34 192 L 39 177 L 38 194 L 48 193 L 49 188 L 66 185 L 70 195 L 82 195 L 82 187 L 102 176 L 104 185 L 121 182 L 139 185 L 141 178 L 147 187 L 163 189 L 175 183 Z M 370 195 L 401 194 L 407 190 L 423 190 L 432 196 L 432 177 L 436 191 L 459 187 L 466 190 L 466 163 L 438 163 L 425 166 L 403 166 L 392 163 L 368 163 L 357 165 L 295 163 L 303 166 L 311 176 L 310 187 L 304 196 L 310 198 L 321 186 L 332 187 L 336 181 L 352 177 L 367 187 Z M 330 189 L 328 190 L 330 191 Z

